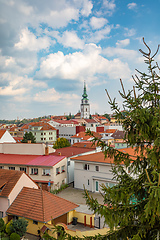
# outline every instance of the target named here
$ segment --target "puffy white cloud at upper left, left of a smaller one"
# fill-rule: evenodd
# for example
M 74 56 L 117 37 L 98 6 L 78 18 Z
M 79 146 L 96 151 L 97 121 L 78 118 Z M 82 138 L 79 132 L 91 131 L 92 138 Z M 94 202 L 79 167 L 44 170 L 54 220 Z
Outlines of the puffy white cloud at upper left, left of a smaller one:
M 20 34 L 20 41 L 15 43 L 17 49 L 28 49 L 29 51 L 39 51 L 41 49 L 47 49 L 50 46 L 50 40 L 48 37 L 39 37 L 30 32 L 27 28 L 22 29 Z

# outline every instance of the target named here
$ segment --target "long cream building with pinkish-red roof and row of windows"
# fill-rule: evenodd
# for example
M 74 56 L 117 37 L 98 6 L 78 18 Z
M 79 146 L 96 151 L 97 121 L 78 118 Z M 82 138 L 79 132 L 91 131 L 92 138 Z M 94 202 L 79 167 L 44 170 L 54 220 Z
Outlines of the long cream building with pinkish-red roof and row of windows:
M 57 189 L 67 182 L 65 156 L 0 153 L 0 168 L 24 171 L 46 190 Z

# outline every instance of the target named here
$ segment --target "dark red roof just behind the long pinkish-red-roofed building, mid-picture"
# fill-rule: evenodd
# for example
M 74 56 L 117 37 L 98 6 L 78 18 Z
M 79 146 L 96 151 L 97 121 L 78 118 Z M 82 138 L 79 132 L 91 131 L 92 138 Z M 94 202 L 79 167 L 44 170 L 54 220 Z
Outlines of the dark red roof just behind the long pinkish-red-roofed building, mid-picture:
M 61 156 L 66 157 L 72 157 L 81 153 L 90 152 L 93 151 L 90 148 L 84 148 L 84 147 L 65 147 L 57 149 L 56 152 L 51 153 L 50 155 L 58 156 L 61 154 Z

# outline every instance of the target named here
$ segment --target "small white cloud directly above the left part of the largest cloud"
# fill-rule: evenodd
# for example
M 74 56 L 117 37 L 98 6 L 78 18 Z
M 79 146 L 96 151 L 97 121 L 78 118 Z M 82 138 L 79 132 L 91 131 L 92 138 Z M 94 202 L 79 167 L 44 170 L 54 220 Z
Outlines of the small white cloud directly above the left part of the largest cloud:
M 59 43 L 63 44 L 65 47 L 71 47 L 74 49 L 83 49 L 84 42 L 81 40 L 75 32 L 65 31 L 62 37 L 59 36 L 58 32 L 54 34 L 55 38 Z

